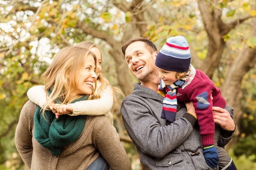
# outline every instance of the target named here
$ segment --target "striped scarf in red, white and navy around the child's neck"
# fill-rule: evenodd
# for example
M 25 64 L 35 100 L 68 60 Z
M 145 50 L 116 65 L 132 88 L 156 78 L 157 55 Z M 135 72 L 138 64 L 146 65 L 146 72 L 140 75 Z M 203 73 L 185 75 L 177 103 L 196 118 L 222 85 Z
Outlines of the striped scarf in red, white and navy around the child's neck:
M 173 123 L 175 121 L 175 116 L 177 113 L 177 96 L 176 96 L 176 88 L 181 87 L 189 75 L 189 71 L 187 72 L 186 77 L 182 77 L 178 79 L 173 84 L 166 86 L 164 81 L 161 79 L 159 82 L 158 90 L 166 92 L 163 101 L 163 109 L 161 117 Z

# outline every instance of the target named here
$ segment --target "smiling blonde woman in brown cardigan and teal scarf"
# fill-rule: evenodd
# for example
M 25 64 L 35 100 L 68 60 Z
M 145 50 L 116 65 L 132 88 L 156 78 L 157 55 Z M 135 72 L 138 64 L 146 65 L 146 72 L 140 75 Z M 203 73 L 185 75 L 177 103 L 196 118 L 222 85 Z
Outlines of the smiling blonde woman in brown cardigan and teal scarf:
M 58 119 L 47 106 L 97 99 L 96 56 L 88 49 L 61 49 L 42 75 L 47 100 L 43 108 L 28 101 L 22 108 L 15 142 L 31 170 L 85 170 L 100 155 L 108 169 L 131 170 L 130 161 L 117 132 L 106 116 L 69 116 Z M 102 168 L 106 170 L 106 168 Z

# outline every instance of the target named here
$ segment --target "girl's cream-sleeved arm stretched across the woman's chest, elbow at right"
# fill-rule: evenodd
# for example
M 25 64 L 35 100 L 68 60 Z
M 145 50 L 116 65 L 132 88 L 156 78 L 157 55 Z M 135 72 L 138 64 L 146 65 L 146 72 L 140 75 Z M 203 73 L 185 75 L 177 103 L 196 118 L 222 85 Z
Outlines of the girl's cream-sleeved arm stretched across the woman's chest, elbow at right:
M 105 115 L 107 114 L 114 103 L 112 88 L 108 86 L 104 88 L 99 99 L 79 101 L 70 103 L 68 105 L 73 107 L 73 113 L 71 116 L 76 115 Z

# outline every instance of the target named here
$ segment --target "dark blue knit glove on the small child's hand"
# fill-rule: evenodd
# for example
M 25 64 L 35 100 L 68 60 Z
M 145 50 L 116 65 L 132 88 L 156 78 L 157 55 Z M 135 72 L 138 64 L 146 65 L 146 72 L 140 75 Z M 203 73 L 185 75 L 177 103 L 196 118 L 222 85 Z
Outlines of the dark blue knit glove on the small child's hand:
M 203 153 L 207 165 L 211 168 L 216 168 L 219 164 L 217 149 L 213 145 L 206 146 L 204 147 Z

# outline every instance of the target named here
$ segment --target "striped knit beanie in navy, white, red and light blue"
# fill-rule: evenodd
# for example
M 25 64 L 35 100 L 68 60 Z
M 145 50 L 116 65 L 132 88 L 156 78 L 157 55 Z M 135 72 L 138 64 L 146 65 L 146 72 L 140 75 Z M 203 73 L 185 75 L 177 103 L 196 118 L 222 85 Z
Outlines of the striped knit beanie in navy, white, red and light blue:
M 191 54 L 186 38 L 178 35 L 166 40 L 157 54 L 155 65 L 169 71 L 185 72 L 189 69 Z

